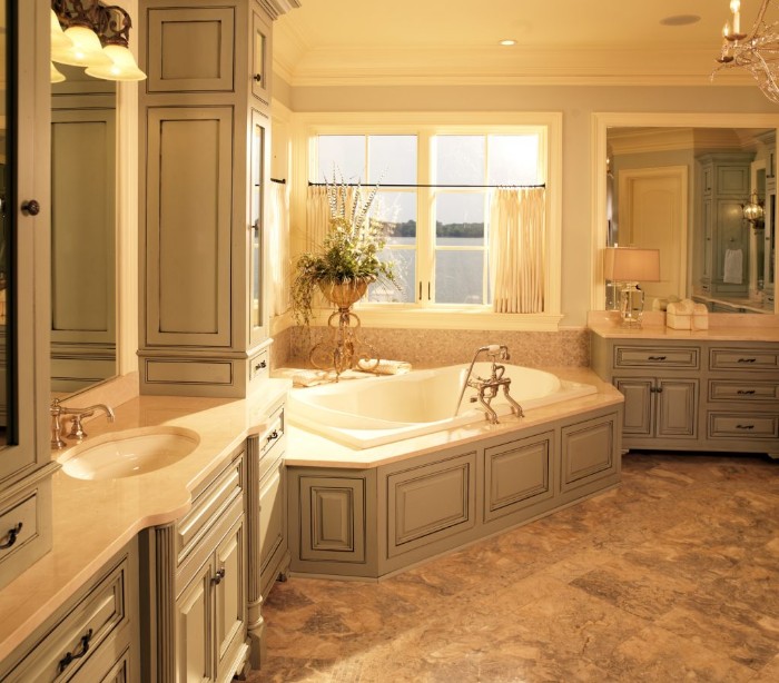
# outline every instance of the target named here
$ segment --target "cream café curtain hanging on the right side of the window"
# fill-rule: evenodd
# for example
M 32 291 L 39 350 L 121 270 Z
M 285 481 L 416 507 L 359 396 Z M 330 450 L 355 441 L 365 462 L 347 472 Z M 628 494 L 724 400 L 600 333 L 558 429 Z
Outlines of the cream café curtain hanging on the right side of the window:
M 542 313 L 544 188 L 500 188 L 490 206 L 490 274 L 496 313 Z

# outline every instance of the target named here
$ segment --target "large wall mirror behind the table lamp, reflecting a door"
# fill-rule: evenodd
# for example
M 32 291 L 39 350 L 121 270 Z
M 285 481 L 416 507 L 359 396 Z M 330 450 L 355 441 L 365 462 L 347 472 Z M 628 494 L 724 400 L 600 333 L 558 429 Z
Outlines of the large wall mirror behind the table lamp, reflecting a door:
M 605 246 L 660 249 L 661 281 L 642 287 L 648 308 L 653 299 L 689 297 L 717 313 L 773 313 L 776 129 L 604 131 Z M 752 191 L 765 207 L 763 221 L 743 216 Z M 609 295 L 605 287 L 607 307 L 613 304 Z

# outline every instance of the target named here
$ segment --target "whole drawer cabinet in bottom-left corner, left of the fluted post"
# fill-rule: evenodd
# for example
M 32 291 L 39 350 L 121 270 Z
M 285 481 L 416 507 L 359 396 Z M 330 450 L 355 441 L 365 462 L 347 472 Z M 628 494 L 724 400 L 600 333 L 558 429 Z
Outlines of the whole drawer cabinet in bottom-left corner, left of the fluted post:
M 130 542 L 0 665 L 8 683 L 140 682 L 138 544 Z

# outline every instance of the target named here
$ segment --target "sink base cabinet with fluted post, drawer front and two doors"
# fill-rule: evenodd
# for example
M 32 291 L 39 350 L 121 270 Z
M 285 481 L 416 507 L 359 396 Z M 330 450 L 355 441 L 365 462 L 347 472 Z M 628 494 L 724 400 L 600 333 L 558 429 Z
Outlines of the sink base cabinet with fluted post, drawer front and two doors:
M 246 447 L 175 524 L 141 533 L 148 606 L 142 680 L 229 681 L 248 660 Z

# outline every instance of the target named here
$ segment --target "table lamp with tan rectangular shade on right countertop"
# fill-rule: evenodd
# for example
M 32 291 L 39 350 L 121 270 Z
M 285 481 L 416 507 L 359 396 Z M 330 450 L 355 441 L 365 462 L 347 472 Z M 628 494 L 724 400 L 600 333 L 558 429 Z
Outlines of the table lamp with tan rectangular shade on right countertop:
M 620 316 L 625 327 L 641 327 L 643 291 L 639 283 L 660 281 L 660 249 L 607 247 L 605 279 L 621 283 Z

